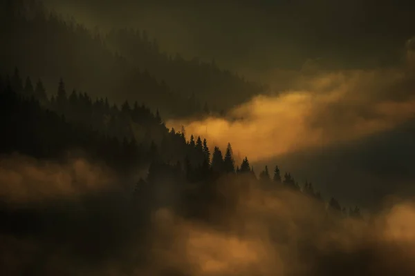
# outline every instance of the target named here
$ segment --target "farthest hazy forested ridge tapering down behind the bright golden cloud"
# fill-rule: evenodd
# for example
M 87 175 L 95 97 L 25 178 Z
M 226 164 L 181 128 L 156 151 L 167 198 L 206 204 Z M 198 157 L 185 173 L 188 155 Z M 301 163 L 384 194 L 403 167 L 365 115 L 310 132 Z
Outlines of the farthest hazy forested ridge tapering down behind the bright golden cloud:
M 195 93 L 202 101 L 219 108 L 229 108 L 266 90 L 266 86 L 247 81 L 229 70 L 221 70 L 214 60 L 205 63 L 198 58 L 185 60 L 179 54 L 172 57 L 162 53 L 157 41 L 151 41 L 145 31 L 113 30 L 104 41 L 140 68 L 147 68 L 156 77 L 165 79 L 175 90 L 185 95 Z

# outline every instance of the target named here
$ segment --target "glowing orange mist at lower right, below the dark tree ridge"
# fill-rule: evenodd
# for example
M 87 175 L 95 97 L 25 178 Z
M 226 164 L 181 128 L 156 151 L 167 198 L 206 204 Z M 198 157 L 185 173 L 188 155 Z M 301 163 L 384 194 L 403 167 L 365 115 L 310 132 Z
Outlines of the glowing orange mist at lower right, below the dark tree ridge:
M 361 220 L 328 216 L 324 204 L 284 190 L 252 187 L 240 199 L 220 226 L 158 210 L 152 252 L 160 270 L 154 275 L 415 273 L 404 261 L 415 256 L 412 201 Z

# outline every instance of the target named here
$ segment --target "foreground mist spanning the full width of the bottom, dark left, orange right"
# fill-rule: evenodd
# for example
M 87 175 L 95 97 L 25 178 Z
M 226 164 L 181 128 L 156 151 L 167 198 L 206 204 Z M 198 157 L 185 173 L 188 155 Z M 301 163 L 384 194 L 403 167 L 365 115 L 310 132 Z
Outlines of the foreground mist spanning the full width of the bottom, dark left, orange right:
M 135 193 L 120 179 L 81 158 L 2 157 L 3 275 L 415 273 L 411 201 L 354 218 L 250 174 Z M 169 188 L 177 193 L 157 195 Z

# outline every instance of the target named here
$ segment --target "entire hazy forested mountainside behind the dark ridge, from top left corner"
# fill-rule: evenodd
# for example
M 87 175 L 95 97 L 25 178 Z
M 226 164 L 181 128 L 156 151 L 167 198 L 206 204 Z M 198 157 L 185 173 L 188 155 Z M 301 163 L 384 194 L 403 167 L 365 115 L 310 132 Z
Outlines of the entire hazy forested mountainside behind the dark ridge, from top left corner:
M 17 66 L 42 78 L 49 89 L 65 76 L 71 86 L 96 93 L 93 97 L 117 103 L 142 99 L 165 117 L 220 112 L 266 89 L 219 69 L 214 61 L 160 52 L 145 31 L 100 34 L 47 12 L 38 1 L 0 3 L 0 71 Z

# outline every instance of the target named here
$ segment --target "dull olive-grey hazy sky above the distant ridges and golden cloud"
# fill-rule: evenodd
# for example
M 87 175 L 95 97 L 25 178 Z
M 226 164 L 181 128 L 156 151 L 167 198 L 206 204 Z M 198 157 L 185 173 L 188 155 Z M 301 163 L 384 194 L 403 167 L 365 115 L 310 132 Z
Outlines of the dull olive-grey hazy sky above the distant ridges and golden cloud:
M 148 30 L 163 49 L 256 75 L 316 58 L 331 68 L 385 65 L 415 34 L 413 1 L 45 2 L 89 26 Z

